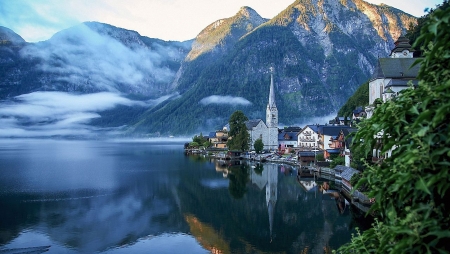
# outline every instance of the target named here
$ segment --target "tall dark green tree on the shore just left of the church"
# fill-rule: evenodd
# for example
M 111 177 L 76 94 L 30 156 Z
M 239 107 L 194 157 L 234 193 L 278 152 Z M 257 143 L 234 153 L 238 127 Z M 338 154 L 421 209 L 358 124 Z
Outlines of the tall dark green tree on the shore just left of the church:
M 240 110 L 235 111 L 228 123 L 230 124 L 229 136 L 227 146 L 231 150 L 247 151 L 249 149 L 250 134 L 247 131 L 246 122 L 247 116 Z

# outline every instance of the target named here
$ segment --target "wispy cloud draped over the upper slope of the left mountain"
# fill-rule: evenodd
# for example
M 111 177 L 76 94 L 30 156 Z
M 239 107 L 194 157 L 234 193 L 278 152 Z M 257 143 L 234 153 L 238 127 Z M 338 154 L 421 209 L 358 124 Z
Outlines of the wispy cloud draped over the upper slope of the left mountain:
M 157 43 L 150 48 L 133 31 L 99 23 L 61 31 L 48 41 L 25 47 L 21 55 L 41 59 L 38 68 L 50 79 L 77 91 L 146 96 L 159 94 L 171 84 L 175 70 L 166 61 L 181 61 L 183 56 L 178 48 Z

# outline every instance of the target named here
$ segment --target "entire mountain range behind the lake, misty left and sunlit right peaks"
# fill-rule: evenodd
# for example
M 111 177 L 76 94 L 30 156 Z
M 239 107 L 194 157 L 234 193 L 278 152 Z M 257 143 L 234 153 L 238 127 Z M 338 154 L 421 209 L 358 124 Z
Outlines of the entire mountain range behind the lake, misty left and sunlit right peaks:
M 335 113 L 411 23 L 387 5 L 297 0 L 270 20 L 242 7 L 185 42 L 86 22 L 27 43 L 0 27 L 0 136 L 191 135 L 235 110 L 265 119 L 271 67 L 280 125 L 307 122 Z

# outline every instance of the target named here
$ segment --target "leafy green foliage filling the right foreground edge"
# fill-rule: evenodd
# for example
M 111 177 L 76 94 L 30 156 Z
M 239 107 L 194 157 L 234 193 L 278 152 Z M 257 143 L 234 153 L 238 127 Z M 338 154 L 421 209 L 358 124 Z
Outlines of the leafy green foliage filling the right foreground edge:
M 367 166 L 367 184 L 379 214 L 373 228 L 342 246 L 342 253 L 447 253 L 450 249 L 450 8 L 437 9 L 416 43 L 427 45 L 414 89 L 381 104 L 361 123 L 355 147 L 379 141 L 392 156 Z M 360 142 L 363 140 L 363 142 Z

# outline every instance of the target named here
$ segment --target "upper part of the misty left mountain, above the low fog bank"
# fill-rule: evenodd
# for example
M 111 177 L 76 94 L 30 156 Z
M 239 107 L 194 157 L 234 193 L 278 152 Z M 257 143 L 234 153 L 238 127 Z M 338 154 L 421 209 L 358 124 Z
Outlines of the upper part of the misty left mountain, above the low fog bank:
M 13 68 L 20 70 L 21 77 L 14 77 L 10 66 L 1 66 L 2 74 L 11 80 L 21 79 L 21 84 L 25 79 L 28 85 L 2 82 L 1 95 L 12 97 L 28 89 L 159 97 L 173 90 L 171 82 L 189 50 L 190 42 L 165 42 L 86 22 L 14 51 Z

